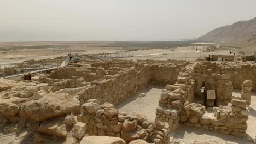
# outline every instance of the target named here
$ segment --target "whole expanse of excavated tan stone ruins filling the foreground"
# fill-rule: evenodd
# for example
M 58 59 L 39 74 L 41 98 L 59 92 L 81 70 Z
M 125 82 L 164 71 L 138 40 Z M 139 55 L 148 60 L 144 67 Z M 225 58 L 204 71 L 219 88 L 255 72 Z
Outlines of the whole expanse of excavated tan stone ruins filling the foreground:
M 181 123 L 245 137 L 255 71 L 244 62 L 78 61 L 32 82 L 1 79 L 0 123 L 4 133 L 24 135 L 24 143 L 167 144 Z M 149 84 L 165 86 L 155 121 L 115 108 Z M 216 90 L 217 101 L 204 103 L 207 90 Z

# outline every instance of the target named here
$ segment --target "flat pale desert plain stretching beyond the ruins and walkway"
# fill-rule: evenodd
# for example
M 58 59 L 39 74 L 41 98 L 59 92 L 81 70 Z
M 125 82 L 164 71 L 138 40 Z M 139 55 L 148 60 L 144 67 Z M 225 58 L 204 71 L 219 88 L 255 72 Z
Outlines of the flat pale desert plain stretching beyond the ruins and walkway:
M 142 43 L 142 42 L 141 42 Z M 228 51 L 203 52 L 203 46 L 197 46 L 193 50 L 192 46 L 168 47 L 170 44 L 156 43 L 136 43 L 136 42 L 114 42 L 114 41 L 53 41 L 53 42 L 22 42 L 22 43 L 0 43 L 0 64 L 19 63 L 29 59 L 55 58 L 67 53 L 96 54 L 133 52 L 132 58 L 126 59 L 194 59 L 208 55 L 228 55 Z M 167 47 L 165 46 L 167 45 Z M 187 44 L 185 44 L 187 45 Z M 159 48 L 161 47 L 161 48 Z M 164 47 L 164 48 L 162 48 Z

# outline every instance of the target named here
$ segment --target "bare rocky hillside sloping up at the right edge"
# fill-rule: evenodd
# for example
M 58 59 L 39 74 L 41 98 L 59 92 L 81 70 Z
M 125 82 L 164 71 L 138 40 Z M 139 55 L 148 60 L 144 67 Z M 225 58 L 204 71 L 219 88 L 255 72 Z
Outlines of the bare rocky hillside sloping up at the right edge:
M 197 40 L 224 42 L 243 48 L 251 53 L 256 48 L 256 17 L 248 21 L 238 21 L 232 25 L 213 29 Z

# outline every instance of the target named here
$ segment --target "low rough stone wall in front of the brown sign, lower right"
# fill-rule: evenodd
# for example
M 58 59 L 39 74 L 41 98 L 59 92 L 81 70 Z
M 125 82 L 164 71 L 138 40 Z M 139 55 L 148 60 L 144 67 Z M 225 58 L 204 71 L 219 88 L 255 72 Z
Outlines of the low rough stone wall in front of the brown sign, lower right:
M 238 137 L 245 136 L 249 115 L 245 100 L 232 99 L 231 104 L 214 107 L 213 110 L 213 113 L 208 113 L 205 106 L 200 104 L 185 105 L 184 111 L 189 117 L 185 125 Z

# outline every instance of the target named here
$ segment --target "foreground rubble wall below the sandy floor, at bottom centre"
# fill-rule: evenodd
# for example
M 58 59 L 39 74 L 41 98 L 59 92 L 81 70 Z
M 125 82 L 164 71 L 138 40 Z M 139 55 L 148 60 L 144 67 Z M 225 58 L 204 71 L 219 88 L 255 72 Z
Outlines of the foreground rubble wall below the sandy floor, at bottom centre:
M 89 100 L 81 106 L 78 121 L 87 124 L 89 135 L 121 137 L 126 142 L 142 139 L 152 143 L 169 143 L 170 137 L 167 123 L 150 122 L 145 116 L 137 113 L 129 115 L 119 113 L 110 103 L 98 104 L 96 99 Z

